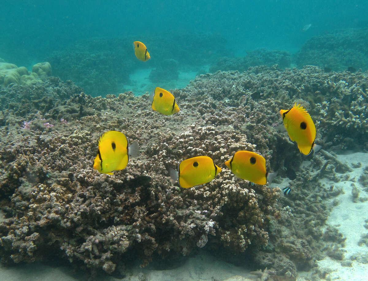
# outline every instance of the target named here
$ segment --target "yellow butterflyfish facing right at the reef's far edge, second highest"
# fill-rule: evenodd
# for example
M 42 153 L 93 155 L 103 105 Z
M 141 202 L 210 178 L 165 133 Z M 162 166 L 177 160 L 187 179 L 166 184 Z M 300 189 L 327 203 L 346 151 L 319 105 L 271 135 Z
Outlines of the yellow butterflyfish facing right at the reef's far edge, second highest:
M 152 109 L 164 115 L 173 115 L 180 111 L 173 94 L 165 89 L 156 87 L 149 98 L 152 101 Z

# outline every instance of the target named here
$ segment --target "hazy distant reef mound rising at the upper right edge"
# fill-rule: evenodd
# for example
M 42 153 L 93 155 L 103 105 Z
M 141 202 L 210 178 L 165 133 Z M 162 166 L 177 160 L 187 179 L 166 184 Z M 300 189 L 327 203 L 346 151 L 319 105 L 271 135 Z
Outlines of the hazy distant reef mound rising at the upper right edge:
M 299 67 L 316 65 L 331 71 L 368 69 L 367 28 L 335 30 L 314 36 L 296 55 Z M 351 67 L 351 68 L 350 68 Z

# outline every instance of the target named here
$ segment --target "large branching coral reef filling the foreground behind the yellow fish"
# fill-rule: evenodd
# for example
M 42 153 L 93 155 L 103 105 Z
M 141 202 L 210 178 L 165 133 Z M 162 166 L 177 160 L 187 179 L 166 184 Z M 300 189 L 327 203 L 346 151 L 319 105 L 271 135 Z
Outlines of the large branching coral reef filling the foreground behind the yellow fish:
M 333 84 L 339 81 L 347 86 Z M 354 112 L 349 106 L 360 96 L 358 105 L 366 106 L 364 85 L 365 74 L 312 66 L 219 71 L 171 90 L 181 108 L 174 116 L 152 111 L 147 94 L 91 97 L 54 77 L 42 85 L 1 88 L 2 262 L 33 262 L 52 253 L 92 273 L 113 274 L 124 271 L 132 253 L 145 266 L 204 247 L 247 257 L 242 260 L 267 267 L 262 272 L 280 280 L 295 278 L 328 252 L 319 250 L 322 244 L 341 243 L 330 241 L 333 230 L 321 230 L 329 209 L 323 199 L 341 190 L 316 179 L 339 181 L 350 167 L 324 150 L 303 161 L 278 129 L 279 109 L 294 102 L 310 109 L 316 142 L 326 149 L 336 146 L 336 130 L 342 148 L 367 147 L 365 131 L 355 132 L 361 138 L 352 143 L 352 128 L 334 120 L 337 109 Z M 141 147 L 113 176 L 92 168 L 98 138 L 107 130 L 122 131 Z M 224 167 L 240 149 L 262 154 L 268 171 L 293 180 L 290 199 L 280 197 L 278 187 L 251 185 L 226 168 L 194 188 L 170 181 L 167 170 L 183 159 L 208 155 Z

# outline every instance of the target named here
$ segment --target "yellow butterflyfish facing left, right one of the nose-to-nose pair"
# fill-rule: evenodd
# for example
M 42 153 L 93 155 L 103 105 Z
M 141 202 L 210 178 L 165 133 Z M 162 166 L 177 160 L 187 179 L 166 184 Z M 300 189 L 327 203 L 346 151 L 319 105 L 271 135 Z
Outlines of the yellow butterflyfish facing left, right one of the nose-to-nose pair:
M 263 156 L 246 150 L 235 152 L 233 158 L 225 162 L 225 165 L 240 179 L 251 181 L 255 184 L 272 182 L 275 173 L 266 172 L 266 160 Z

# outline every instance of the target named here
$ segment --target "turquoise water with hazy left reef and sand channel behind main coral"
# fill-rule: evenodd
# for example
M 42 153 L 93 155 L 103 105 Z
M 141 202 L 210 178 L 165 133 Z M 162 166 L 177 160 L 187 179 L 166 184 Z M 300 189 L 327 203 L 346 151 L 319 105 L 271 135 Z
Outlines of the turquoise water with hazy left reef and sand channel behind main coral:
M 281 68 L 296 66 L 297 53 L 308 39 L 367 27 L 366 10 L 366 1 L 332 0 L 7 2 L 0 19 L 0 58 L 26 66 L 28 71 L 35 63 L 48 61 L 52 75 L 74 81 L 92 96 L 118 94 L 129 87 L 139 96 L 158 83 L 181 88 L 208 72 L 220 58 L 244 58 L 259 48 L 287 51 L 291 64 L 263 57 L 244 64 L 243 69 L 218 69 L 244 71 L 275 63 Z M 134 57 L 132 42 L 136 40 L 144 42 L 151 53 L 145 64 Z M 344 60 L 343 68 L 360 67 L 356 63 L 360 57 L 333 52 L 336 60 Z M 315 59 L 298 66 L 304 64 L 325 67 Z M 343 69 L 335 66 L 328 65 L 332 70 Z M 138 85 L 137 73 L 145 73 Z M 146 77 L 149 73 L 151 77 Z M 185 80 L 173 83 L 179 73 L 193 74 L 184 74 Z

